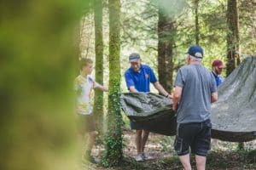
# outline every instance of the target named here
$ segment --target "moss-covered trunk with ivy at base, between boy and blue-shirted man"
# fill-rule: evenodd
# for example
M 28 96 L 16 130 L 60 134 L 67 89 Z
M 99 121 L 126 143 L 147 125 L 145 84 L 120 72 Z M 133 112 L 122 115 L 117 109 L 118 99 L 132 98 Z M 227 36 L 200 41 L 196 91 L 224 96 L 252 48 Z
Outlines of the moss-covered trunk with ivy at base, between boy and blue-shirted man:
M 109 96 L 106 166 L 116 166 L 123 160 L 122 116 L 120 111 L 120 0 L 109 0 Z

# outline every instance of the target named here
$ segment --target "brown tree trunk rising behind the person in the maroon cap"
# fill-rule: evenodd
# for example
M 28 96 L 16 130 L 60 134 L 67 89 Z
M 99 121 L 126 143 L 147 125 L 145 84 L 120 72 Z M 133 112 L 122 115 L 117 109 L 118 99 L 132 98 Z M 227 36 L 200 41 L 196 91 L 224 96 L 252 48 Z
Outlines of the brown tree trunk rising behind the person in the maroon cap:
M 240 63 L 239 52 L 239 19 L 238 19 L 238 2 L 237 0 L 227 1 L 227 76 Z

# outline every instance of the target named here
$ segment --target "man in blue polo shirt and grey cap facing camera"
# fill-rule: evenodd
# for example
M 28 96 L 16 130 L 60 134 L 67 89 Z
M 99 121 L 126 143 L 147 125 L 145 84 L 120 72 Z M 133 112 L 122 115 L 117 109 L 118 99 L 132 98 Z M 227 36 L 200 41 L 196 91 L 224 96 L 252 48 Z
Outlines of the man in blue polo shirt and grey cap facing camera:
M 137 92 L 150 92 L 150 82 L 153 83 L 160 94 L 165 95 L 167 98 L 172 98 L 170 94 L 160 85 L 154 76 L 154 71 L 148 65 L 141 64 L 141 57 L 137 53 L 133 53 L 129 56 L 129 62 L 131 67 L 125 71 L 126 86 L 132 93 Z M 148 139 L 149 132 L 143 130 L 143 125 L 131 122 L 131 129 L 136 130 L 136 146 L 137 146 L 137 161 L 144 161 L 149 159 L 144 153 L 145 144 Z

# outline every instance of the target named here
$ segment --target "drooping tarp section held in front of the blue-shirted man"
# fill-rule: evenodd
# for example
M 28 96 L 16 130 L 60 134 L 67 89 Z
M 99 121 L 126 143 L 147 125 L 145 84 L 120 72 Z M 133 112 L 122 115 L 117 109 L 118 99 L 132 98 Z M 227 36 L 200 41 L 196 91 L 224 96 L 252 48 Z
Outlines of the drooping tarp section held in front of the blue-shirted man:
M 176 134 L 176 116 L 172 99 L 152 93 L 126 93 L 121 95 L 121 106 L 131 122 L 144 129 L 172 136 Z

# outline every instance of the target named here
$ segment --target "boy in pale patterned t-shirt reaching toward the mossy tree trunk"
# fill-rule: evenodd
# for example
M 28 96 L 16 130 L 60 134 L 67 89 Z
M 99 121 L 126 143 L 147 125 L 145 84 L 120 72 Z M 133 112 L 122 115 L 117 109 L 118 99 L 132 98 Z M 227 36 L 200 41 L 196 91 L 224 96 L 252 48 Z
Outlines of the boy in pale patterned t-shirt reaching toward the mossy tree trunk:
M 84 158 L 88 161 L 94 161 L 91 156 L 91 150 L 96 139 L 96 122 L 93 116 L 92 106 L 90 105 L 91 91 L 93 88 L 99 88 L 108 92 L 108 88 L 95 82 L 89 75 L 93 69 L 91 59 L 80 60 L 80 75 L 75 79 L 75 91 L 77 94 L 76 112 L 79 122 L 79 134 L 84 137 L 88 133 L 88 142 Z

